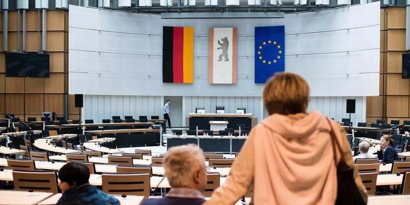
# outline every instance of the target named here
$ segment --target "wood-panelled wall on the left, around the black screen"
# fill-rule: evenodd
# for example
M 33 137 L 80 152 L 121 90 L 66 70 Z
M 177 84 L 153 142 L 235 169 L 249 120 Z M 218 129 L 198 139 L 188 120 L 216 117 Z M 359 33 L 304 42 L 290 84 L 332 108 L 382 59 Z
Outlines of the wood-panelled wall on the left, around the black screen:
M 23 14 L 20 13 L 20 48 L 18 48 L 18 12 L 8 11 L 7 51 L 23 51 Z M 42 17 L 40 11 L 27 11 L 26 52 L 42 51 Z M 0 12 L 0 51 L 3 50 L 3 14 Z M 40 18 L 40 21 L 38 21 Z M 68 13 L 47 11 L 47 49 L 50 54 L 50 78 L 5 77 L 4 52 L 0 52 L 0 118 L 5 113 L 16 117 L 41 117 L 43 111 L 64 115 L 64 94 L 68 93 Z M 69 99 L 74 97 L 69 96 Z M 74 106 L 74 100 L 69 101 Z M 71 119 L 79 119 L 79 111 L 70 109 Z

